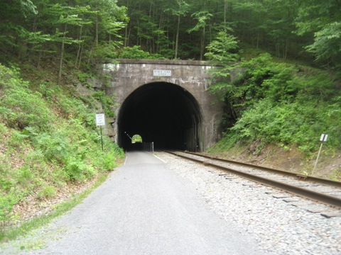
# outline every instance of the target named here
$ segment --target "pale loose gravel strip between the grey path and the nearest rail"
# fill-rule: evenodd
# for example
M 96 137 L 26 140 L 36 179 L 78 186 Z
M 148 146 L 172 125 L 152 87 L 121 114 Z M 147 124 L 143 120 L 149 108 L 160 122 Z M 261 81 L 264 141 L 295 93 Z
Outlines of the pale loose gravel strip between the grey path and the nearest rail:
M 273 188 L 165 152 L 155 154 L 178 176 L 191 181 L 213 211 L 253 234 L 264 253 L 341 254 L 341 217 L 327 218 L 307 210 L 316 206 L 330 211 L 327 205 L 288 198 Z

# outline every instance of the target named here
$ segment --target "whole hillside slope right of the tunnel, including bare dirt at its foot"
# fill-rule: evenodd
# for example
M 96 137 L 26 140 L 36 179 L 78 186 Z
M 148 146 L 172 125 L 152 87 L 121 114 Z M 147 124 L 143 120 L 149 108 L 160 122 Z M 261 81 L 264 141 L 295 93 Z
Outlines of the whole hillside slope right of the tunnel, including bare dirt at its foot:
M 244 58 L 237 68 L 244 70 L 239 79 L 210 87 L 224 100 L 225 113 L 224 137 L 209 152 L 340 181 L 337 72 L 283 62 L 264 52 Z M 215 74 L 224 78 L 229 69 L 227 64 Z M 321 134 L 329 137 L 314 172 Z

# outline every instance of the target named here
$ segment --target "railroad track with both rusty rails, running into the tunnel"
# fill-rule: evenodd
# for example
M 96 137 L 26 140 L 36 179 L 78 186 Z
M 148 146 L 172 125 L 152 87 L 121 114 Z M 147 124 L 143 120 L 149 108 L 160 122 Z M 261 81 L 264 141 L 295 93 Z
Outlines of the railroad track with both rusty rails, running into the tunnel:
M 305 176 L 254 164 L 205 156 L 193 152 L 166 152 L 205 164 L 206 166 L 222 169 L 231 174 L 242 176 L 245 179 L 277 188 L 286 193 L 330 205 L 337 210 L 337 216 L 341 216 L 341 182 L 339 181 L 320 179 L 313 176 Z

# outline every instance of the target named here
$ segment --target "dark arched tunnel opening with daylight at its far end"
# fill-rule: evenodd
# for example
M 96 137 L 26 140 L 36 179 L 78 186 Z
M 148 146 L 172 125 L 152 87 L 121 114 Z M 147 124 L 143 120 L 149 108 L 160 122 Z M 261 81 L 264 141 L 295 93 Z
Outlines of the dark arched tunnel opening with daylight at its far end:
M 140 135 L 155 149 L 202 150 L 202 114 L 197 100 L 181 86 L 166 82 L 145 84 L 122 103 L 118 114 L 118 143 L 125 150 L 140 149 L 132 142 Z

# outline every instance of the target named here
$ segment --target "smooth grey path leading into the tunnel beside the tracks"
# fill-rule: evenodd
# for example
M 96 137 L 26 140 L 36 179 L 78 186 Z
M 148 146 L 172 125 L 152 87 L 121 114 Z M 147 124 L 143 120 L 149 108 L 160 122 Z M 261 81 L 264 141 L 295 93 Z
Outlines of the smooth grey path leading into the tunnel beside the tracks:
M 168 164 L 150 153 L 129 152 L 124 166 L 83 203 L 2 244 L 0 254 L 263 254 L 257 233 L 211 210 L 213 198 L 202 196 L 208 188 L 204 172 L 190 176 L 197 166 L 158 157 Z

